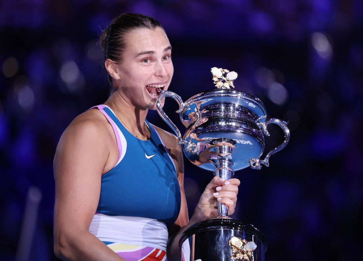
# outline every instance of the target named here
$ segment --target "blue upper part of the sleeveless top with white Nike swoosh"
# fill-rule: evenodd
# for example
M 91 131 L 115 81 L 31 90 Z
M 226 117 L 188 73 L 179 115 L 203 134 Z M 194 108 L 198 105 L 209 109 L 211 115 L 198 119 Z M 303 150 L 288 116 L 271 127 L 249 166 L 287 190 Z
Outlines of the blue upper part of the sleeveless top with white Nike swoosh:
M 174 224 L 180 211 L 180 187 L 174 162 L 158 133 L 146 121 L 150 139 L 139 140 L 109 108 L 103 110 L 122 132 L 124 142 L 121 161 L 101 177 L 97 213 L 146 217 L 168 226 Z

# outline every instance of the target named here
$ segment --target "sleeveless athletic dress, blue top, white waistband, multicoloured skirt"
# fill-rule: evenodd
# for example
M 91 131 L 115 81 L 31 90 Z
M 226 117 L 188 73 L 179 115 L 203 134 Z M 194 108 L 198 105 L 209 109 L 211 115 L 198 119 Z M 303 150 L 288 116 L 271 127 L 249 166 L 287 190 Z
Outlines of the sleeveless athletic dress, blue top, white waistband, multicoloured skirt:
M 89 232 L 127 261 L 167 260 L 167 227 L 176 221 L 181 202 L 174 161 L 148 121 L 150 139 L 143 141 L 129 133 L 108 106 L 92 108 L 111 124 L 119 157 L 101 177 Z M 189 256 L 189 245 L 183 244 L 182 260 Z

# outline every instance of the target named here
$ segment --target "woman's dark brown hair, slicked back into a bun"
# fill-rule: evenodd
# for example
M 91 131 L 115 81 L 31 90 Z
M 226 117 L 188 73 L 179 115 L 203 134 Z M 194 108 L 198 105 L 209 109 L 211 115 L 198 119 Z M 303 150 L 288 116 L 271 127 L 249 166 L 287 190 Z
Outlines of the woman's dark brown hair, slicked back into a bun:
M 123 13 L 116 17 L 99 37 L 99 43 L 103 49 L 103 62 L 106 59 L 111 59 L 115 63 L 122 61 L 122 51 L 126 45 L 126 35 L 130 31 L 138 28 L 155 29 L 156 27 L 164 29 L 151 16 L 139 13 Z M 110 84 L 112 84 L 111 76 L 108 73 L 107 75 Z

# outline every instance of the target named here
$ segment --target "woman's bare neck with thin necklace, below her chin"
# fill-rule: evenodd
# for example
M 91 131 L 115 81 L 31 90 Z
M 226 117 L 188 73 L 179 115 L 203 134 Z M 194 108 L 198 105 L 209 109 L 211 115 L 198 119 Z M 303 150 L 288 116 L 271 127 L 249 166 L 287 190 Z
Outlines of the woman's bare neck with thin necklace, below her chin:
M 128 103 L 117 91 L 111 93 L 106 104 L 111 107 L 116 116 L 121 118 L 121 122 L 126 125 L 129 131 L 136 135 L 148 136 L 148 130 L 145 127 L 147 109 L 136 108 Z

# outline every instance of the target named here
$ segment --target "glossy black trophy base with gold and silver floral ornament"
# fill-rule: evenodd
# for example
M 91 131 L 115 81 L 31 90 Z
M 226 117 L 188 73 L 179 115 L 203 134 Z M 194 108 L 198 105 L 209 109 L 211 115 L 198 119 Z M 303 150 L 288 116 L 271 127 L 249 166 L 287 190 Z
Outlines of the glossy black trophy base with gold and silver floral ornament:
M 181 235 L 179 246 L 192 235 L 195 235 L 195 243 L 194 259 L 191 260 L 265 260 L 267 243 L 264 235 L 253 225 L 239 220 L 215 218 L 194 224 Z

